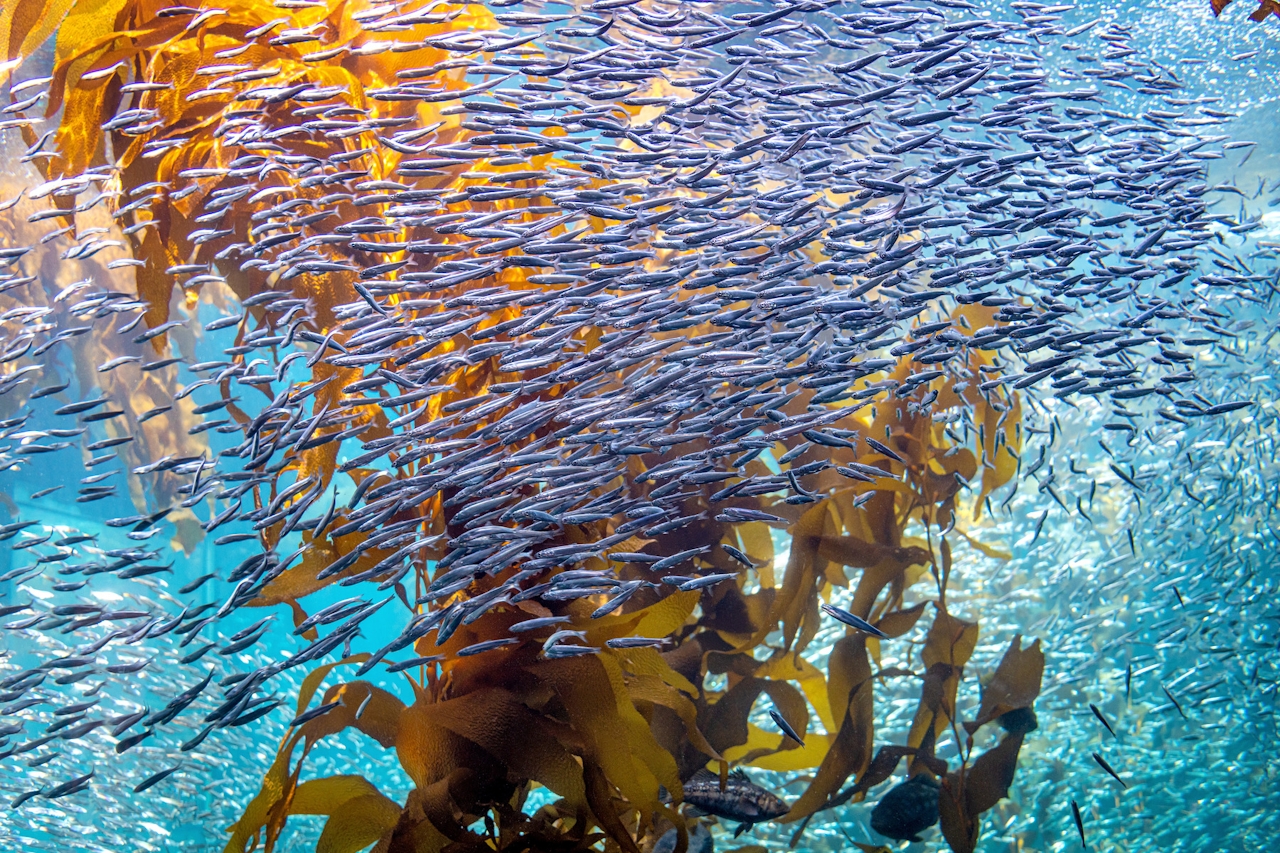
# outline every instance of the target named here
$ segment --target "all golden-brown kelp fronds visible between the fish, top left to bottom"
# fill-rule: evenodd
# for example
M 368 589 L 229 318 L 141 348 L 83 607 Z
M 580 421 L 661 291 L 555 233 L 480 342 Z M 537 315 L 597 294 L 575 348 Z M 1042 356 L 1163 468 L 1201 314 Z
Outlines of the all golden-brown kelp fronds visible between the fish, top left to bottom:
M 228 402 L 229 419 L 246 433 L 252 426 L 252 442 L 246 439 L 238 448 L 250 460 L 246 467 L 287 448 L 266 484 L 242 492 L 252 506 L 247 517 L 264 552 L 270 553 L 301 529 L 301 510 L 294 507 L 305 507 L 307 494 L 332 491 L 337 478 L 349 478 L 369 502 L 428 469 L 430 457 L 412 451 L 378 461 L 379 442 L 393 434 L 393 419 L 412 426 L 448 423 L 517 375 L 504 371 L 497 356 L 467 359 L 465 338 L 454 332 L 420 348 L 421 355 L 457 356 L 428 392 L 410 394 L 412 401 L 362 396 L 358 383 L 364 368 L 394 371 L 398 359 L 410 356 L 385 347 L 361 352 L 357 333 L 343 328 L 342 306 L 364 298 L 356 288 L 361 269 L 375 264 L 396 268 L 396 277 L 378 284 L 378 295 L 392 306 L 407 305 L 406 316 L 415 319 L 443 313 L 448 305 L 467 305 L 475 298 L 468 293 L 479 289 L 535 291 L 541 284 L 530 280 L 527 268 L 500 268 L 448 288 L 433 288 L 431 305 L 412 305 L 416 279 L 408 274 L 429 274 L 439 260 L 410 247 L 419 242 L 461 247 L 461 241 L 442 225 L 404 223 L 374 233 L 361 231 L 355 223 L 369 214 L 367 206 L 385 213 L 393 201 L 375 200 L 357 207 L 353 196 L 346 197 L 349 193 L 330 193 L 324 184 L 307 182 L 316 164 L 342 164 L 357 175 L 348 181 L 366 182 L 370 192 L 412 177 L 415 187 L 451 190 L 445 209 L 466 205 L 467 210 L 511 213 L 517 222 L 532 222 L 532 214 L 524 209 L 547 199 L 500 158 L 436 164 L 415 174 L 410 155 L 394 146 L 366 145 L 380 140 L 387 128 L 408 123 L 436 126 L 433 138 L 439 145 L 474 133 L 456 111 L 445 113 L 431 102 L 380 99 L 379 91 L 402 76 L 412 77 L 415 69 L 447 59 L 449 38 L 479 38 L 495 29 L 498 22 L 490 12 L 479 5 L 404 4 L 397 6 L 396 27 L 388 27 L 397 41 L 370 44 L 362 35 L 369 22 L 357 20 L 351 4 L 306 4 L 289 10 L 285 20 L 292 31 L 314 36 L 307 40 L 273 35 L 283 12 L 262 0 L 236 0 L 198 14 L 161 14 L 166 6 L 157 0 L 63 0 L 13 8 L 19 6 L 20 14 L 9 10 L 0 18 L 0 54 L 29 55 L 56 31 L 46 113 L 58 122 L 56 155 L 42 160 L 42 168 L 45 195 L 52 209 L 61 211 L 61 220 L 74 224 L 84 215 L 76 210 L 74 200 L 87 187 L 102 190 L 115 227 L 141 264 L 134 266 L 136 293 L 147 328 L 160 328 L 175 304 L 192 307 L 202 291 L 227 288 L 246 306 L 228 369 L 255 370 L 260 365 L 246 364 L 243 352 L 236 350 L 247 341 L 278 336 L 282 350 L 294 345 L 306 356 L 292 368 L 292 355 L 266 365 L 279 373 L 275 379 L 284 386 L 283 398 L 323 383 L 311 394 L 308 418 L 319 424 L 326 414 L 342 412 L 340 425 L 335 429 L 328 423 L 312 443 L 294 441 L 294 423 L 259 421 L 252 414 L 256 406 Z M 244 68 L 204 73 L 228 63 Z M 244 76 L 251 69 L 273 72 L 270 86 L 257 74 Z M 444 95 L 467 88 L 460 69 L 438 70 L 431 77 Z M 339 97 L 362 119 L 344 126 L 342 133 L 297 134 L 293 108 L 284 106 L 284 99 L 273 100 L 279 91 L 294 87 Z M 110 118 L 125 101 L 154 114 L 155 127 L 111 129 Z M 255 123 L 241 134 L 229 133 L 229 127 L 238 126 L 229 126 L 228 117 L 244 104 L 255 106 Z M 29 126 L 23 131 L 33 143 L 35 131 Z M 259 174 L 266 161 L 243 154 L 243 133 L 255 134 L 251 142 L 261 143 L 297 136 L 291 141 L 296 163 L 275 163 L 278 168 Z M 547 151 L 531 158 L 535 170 L 558 165 L 553 131 L 547 131 L 545 141 Z M 118 172 L 95 172 L 106 164 Z M 479 193 L 468 193 L 507 173 L 512 178 L 504 186 L 518 191 L 516 195 L 476 200 Z M 239 193 L 248 175 L 278 183 Z M 161 186 L 165 192 L 156 192 Z M 271 213 L 279 196 L 297 202 L 289 210 L 326 214 L 333 219 L 326 227 L 349 227 L 352 240 L 343 251 L 351 255 L 300 255 L 296 263 L 275 269 L 256 263 L 274 245 L 271 234 L 287 227 L 260 225 L 284 215 Z M 212 216 L 207 210 L 211 199 L 225 200 Z M 145 204 L 136 204 L 140 201 Z M 593 231 L 607 227 L 595 216 L 588 222 Z M 655 269 L 666 260 L 667 254 L 655 251 L 648 265 Z M 297 297 L 307 306 L 306 314 L 278 328 L 257 307 L 264 295 L 275 293 Z M 479 328 L 517 320 L 524 310 L 518 304 L 493 309 Z M 979 305 L 955 310 L 951 320 L 964 334 L 998 325 L 995 311 Z M 707 332 L 705 325 L 692 325 L 662 337 L 676 342 Z M 168 337 L 157 334 L 145 343 L 165 352 Z M 591 352 L 599 347 L 599 332 L 575 332 L 575 341 Z M 330 343 L 338 355 L 328 352 Z M 83 355 L 90 364 L 105 357 L 88 351 Z M 270 852 L 291 816 L 319 815 L 326 816 L 326 822 L 317 849 L 334 853 L 369 844 L 378 853 L 581 850 L 602 841 L 608 849 L 636 852 L 659 827 L 669 826 L 676 827 L 676 849 L 684 853 L 689 826 L 678 809 L 682 780 L 703 767 L 722 777 L 732 766 L 812 771 L 806 789 L 781 818 L 803 830 L 814 815 L 865 798 L 902 758 L 909 758 L 913 775 L 941 779 L 943 835 L 955 850 L 972 850 L 980 815 L 1007 790 L 1023 739 L 1021 734 L 1006 735 L 970 761 L 972 735 L 1002 713 L 1030 707 L 1043 658 L 1038 646 L 1024 651 L 1015 639 L 977 719 L 965 724 L 969 740 L 960 765 L 950 767 L 934 756 L 946 731 L 960 740 L 959 688 L 979 631 L 979 624 L 972 621 L 975 615 L 948 610 L 946 593 L 957 570 L 952 546 L 964 539 L 987 556 L 1000 553 L 980 542 L 977 525 L 989 507 L 989 496 L 1015 478 L 1023 443 L 1020 400 L 1000 388 L 983 389 L 1000 368 L 977 345 L 963 347 L 961 356 L 945 369 L 934 368 L 904 356 L 888 370 L 869 371 L 837 402 L 815 402 L 815 392 L 804 389 L 780 403 L 781 414 L 799 419 L 813 407 L 826 407 L 820 428 L 826 442 L 813 443 L 813 429 L 797 429 L 767 455 L 746 462 L 736 482 L 686 483 L 685 511 L 699 514 L 696 523 L 616 546 L 617 552 L 654 557 L 696 549 L 700 567 L 735 573 L 733 583 L 669 593 L 640 587 L 628 602 L 602 617 L 594 613 L 603 597 L 570 603 L 508 601 L 477 619 L 451 625 L 447 638 L 443 628 L 434 635 L 406 634 L 401 648 L 420 656 L 422 663 L 402 676 L 403 697 L 358 676 L 342 680 L 352 666 L 369 671 L 385 663 L 366 654 L 314 669 L 303 680 L 296 712 L 303 717 L 316 694 L 317 708 L 332 707 L 291 727 L 282 739 L 260 792 L 230 827 L 227 852 Z M 291 370 L 303 374 L 302 379 L 294 380 Z M 598 393 L 621 392 L 623 378 L 617 370 L 604 365 L 598 373 Z M 230 400 L 227 375 L 220 388 Z M 548 380 L 538 391 L 513 394 L 488 415 L 486 423 L 460 426 L 453 434 L 499 434 L 512 452 L 547 439 L 563 424 L 524 429 L 503 419 L 517 406 L 563 396 L 573 382 Z M 257 402 L 274 398 L 268 391 L 270 382 L 257 387 L 264 393 Z M 884 389 L 890 393 L 881 394 Z M 155 405 L 151 391 L 133 389 L 131 394 Z M 963 435 L 950 421 L 934 419 L 923 403 L 925 398 L 932 398 L 932 411 L 963 412 Z M 170 418 L 182 425 L 184 412 L 189 410 L 179 406 Z M 360 441 L 365 452 L 339 465 L 338 444 L 347 438 Z M 157 457 L 161 443 L 175 441 L 173 435 L 159 437 L 147 453 Z M 682 443 L 710 450 L 705 437 L 689 437 Z M 183 452 L 189 455 L 191 450 Z M 778 462 L 781 459 L 790 461 Z M 713 500 L 726 487 L 748 487 L 815 460 L 827 464 L 806 475 L 803 500 L 783 500 L 773 488 L 763 493 L 739 488 Z M 653 476 L 664 461 L 657 450 L 631 456 L 627 476 L 634 491 L 648 496 L 664 488 Z M 595 497 L 611 485 L 585 491 Z M 381 544 L 369 547 L 375 525 L 352 528 L 346 511 L 338 510 L 323 530 L 302 530 L 300 562 L 273 573 L 246 605 L 287 607 L 293 624 L 302 625 L 308 596 L 370 580 L 394 589 L 413 624 L 426 624 L 463 598 L 493 593 L 521 570 L 521 560 L 516 560 L 448 596 L 426 594 L 442 574 L 447 538 L 465 532 L 465 510 L 466 494 L 458 488 L 413 507 L 390 505 L 378 523 L 410 524 L 420 530 L 422 544 L 411 555 Z M 735 510 L 777 519 L 776 526 L 783 528 L 790 540 L 785 566 L 774 565 L 771 528 L 740 520 Z M 544 547 L 599 542 L 617 533 L 613 520 L 585 520 L 564 525 Z M 744 552 L 753 567 L 736 562 L 721 544 Z M 600 569 L 603 561 L 586 560 L 584 566 Z M 640 564 L 627 564 L 618 574 L 623 580 L 650 580 Z M 850 612 L 876 625 L 887 639 L 846 630 L 819 666 L 815 656 L 805 657 L 823 624 L 819 605 L 842 588 L 850 589 Z M 884 646 L 909 635 L 927 615 L 923 674 L 882 670 Z M 559 628 L 581 631 L 582 646 L 595 651 L 549 660 L 539 652 L 545 634 L 538 631 L 483 654 L 461 654 L 479 643 L 509 638 L 518 621 L 545 616 L 564 617 Z M 319 640 L 315 633 L 306 638 L 328 643 L 311 647 L 325 653 L 343 639 L 330 635 Z M 608 644 L 622 638 L 652 638 L 664 648 Z M 312 652 L 312 657 L 320 653 Z M 920 680 L 919 707 L 905 744 L 878 744 L 877 686 L 893 675 Z M 723 689 L 708 686 L 719 676 Z M 329 680 L 333 683 L 321 693 Z M 253 686 L 234 688 L 228 702 L 251 695 Z M 805 738 L 804 747 L 753 724 L 753 708 L 765 695 Z M 306 758 L 315 745 L 347 729 L 365 735 L 362 743 L 370 751 L 394 753 L 413 785 L 406 802 L 390 800 L 356 774 L 303 780 Z M 527 815 L 524 804 L 535 785 L 557 799 Z

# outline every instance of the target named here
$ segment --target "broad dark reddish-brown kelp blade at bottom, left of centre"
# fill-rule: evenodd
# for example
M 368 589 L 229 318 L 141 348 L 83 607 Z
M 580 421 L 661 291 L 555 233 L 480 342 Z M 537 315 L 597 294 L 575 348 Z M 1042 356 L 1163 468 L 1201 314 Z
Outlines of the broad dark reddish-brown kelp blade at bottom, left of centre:
M 515 694 L 500 688 L 483 688 L 425 704 L 420 713 L 481 747 L 517 775 L 541 783 L 572 806 L 585 802 L 577 762 L 557 740 L 552 724 L 538 717 Z

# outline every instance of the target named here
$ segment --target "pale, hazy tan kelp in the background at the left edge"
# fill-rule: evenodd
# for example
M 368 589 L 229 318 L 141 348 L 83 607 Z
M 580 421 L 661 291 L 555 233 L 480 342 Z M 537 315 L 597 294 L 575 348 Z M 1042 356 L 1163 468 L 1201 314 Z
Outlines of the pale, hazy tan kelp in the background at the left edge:
M 54 396 L 59 406 L 79 401 L 74 388 L 93 391 L 84 400 L 102 402 L 79 414 L 78 424 L 87 429 L 99 423 L 106 438 L 88 442 L 84 461 L 109 460 L 102 451 L 111 448 L 125 462 L 124 488 L 140 512 L 177 510 L 191 494 L 183 491 L 189 480 L 174 469 L 209 457 L 207 426 L 197 428 L 195 403 L 177 393 L 177 368 L 141 369 L 154 352 L 147 327 L 138 323 L 146 305 L 131 298 L 129 272 L 119 265 L 125 255 L 123 234 L 101 211 L 82 215 L 78 228 L 49 228 L 44 213 L 45 202 L 20 197 L 0 210 L 0 234 L 9 245 L 24 247 L 13 257 L 23 274 L 0 293 L 0 316 L 5 318 L 0 321 L 0 370 L 31 375 L 5 391 L 0 412 L 15 414 L 37 386 L 69 383 L 70 388 Z M 63 263 L 68 255 L 79 259 L 78 269 Z M 113 320 L 95 323 L 99 318 Z M 69 330 L 55 334 L 55 329 Z M 184 325 L 170 333 L 191 350 Z M 59 343 L 67 345 L 65 353 L 54 348 Z M 114 493 L 101 487 L 79 497 L 91 503 L 101 500 L 95 494 Z M 179 510 L 172 520 L 188 516 Z M 178 544 L 189 551 L 198 530 L 186 526 Z

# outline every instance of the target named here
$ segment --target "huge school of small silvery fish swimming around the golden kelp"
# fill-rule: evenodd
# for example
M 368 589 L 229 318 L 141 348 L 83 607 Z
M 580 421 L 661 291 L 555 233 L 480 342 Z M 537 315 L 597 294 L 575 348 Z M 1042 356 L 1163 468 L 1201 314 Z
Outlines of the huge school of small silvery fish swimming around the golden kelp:
M 366 5 L 365 44 L 406 51 L 396 38 L 412 18 L 454 10 Z M 361 101 L 443 104 L 465 136 L 439 138 L 412 111 L 379 123 L 323 79 L 285 85 L 234 56 L 209 68 L 210 88 L 232 92 L 209 120 L 241 155 L 187 175 L 183 201 L 202 229 L 187 237 L 247 238 L 165 273 L 196 292 L 247 269 L 276 286 L 160 324 L 138 289 L 105 286 L 90 264 L 141 269 L 120 223 L 137 233 L 145 220 L 120 211 L 173 188 L 120 197 L 110 164 L 44 181 L 33 164 L 55 143 L 26 117 L 47 68 L 37 55 L 10 69 L 0 138 L 26 177 L 0 204 L 23 220 L 0 234 L 0 297 L 15 300 L 0 314 L 0 400 L 13 401 L 0 421 L 0 488 L 13 498 L 0 525 L 0 838 L 27 850 L 212 849 L 282 733 L 332 710 L 294 713 L 307 670 L 351 652 L 371 653 L 369 678 L 430 663 L 417 640 L 443 644 L 522 601 L 593 598 L 603 616 L 640 592 L 732 581 L 696 552 L 618 548 L 700 519 L 776 521 L 735 498 L 813 502 L 837 450 L 893 459 L 878 437 L 832 426 L 855 411 L 913 406 L 968 439 L 982 425 L 964 409 L 934 411 L 937 393 L 920 389 L 983 351 L 993 364 L 979 392 L 996 407 L 1010 392 L 1025 403 L 1018 476 L 986 501 L 1012 560 L 974 567 L 956 599 L 992 620 L 979 675 L 1015 633 L 1042 638 L 1050 670 L 1018 785 L 982 849 L 1270 843 L 1280 243 L 1262 214 L 1280 178 L 1236 174 L 1275 140 L 1221 132 L 1234 114 L 1222 93 L 1185 83 L 1194 56 L 1157 61 L 1123 14 L 1076 22 L 1069 4 L 490 9 L 499 29 L 434 37 L 448 60 L 370 81 Z M 168 14 L 198 27 L 209 13 Z M 311 37 L 244 29 L 246 42 Z M 467 88 L 434 87 L 444 72 Z M 262 119 L 280 104 L 294 124 Z M 132 101 L 104 117 L 125 132 L 160 120 Z M 356 134 L 394 154 L 394 174 L 367 165 L 376 149 L 316 155 Z M 436 181 L 476 160 L 494 170 L 461 190 Z M 60 227 L 50 199 L 109 210 L 114 224 Z M 334 227 L 339 204 L 365 213 Z M 247 219 L 224 220 L 230 210 Z M 74 283 L 54 287 L 54 270 Z M 338 274 L 355 284 L 325 328 L 288 282 Z M 50 298 L 23 296 L 40 287 Z M 68 360 L 96 334 L 119 338 L 123 355 Z M 904 356 L 909 379 L 877 378 Z M 454 371 L 488 359 L 500 382 L 424 418 Z M 334 393 L 349 369 L 362 373 Z M 95 384 L 161 375 L 180 377 L 175 393 L 141 415 Z M 389 428 L 362 442 L 369 409 Z M 134 439 L 177 410 L 210 452 L 150 456 Z M 769 456 L 797 435 L 788 459 Z M 344 491 L 300 473 L 252 500 L 314 448 L 335 453 L 339 471 L 370 473 Z M 762 457 L 772 474 L 746 474 Z M 56 466 L 76 469 L 78 492 L 59 488 Z M 858 462 L 838 473 L 883 474 Z M 140 489 L 168 500 L 95 515 Z M 690 512 L 696 496 L 708 508 Z M 433 500 L 465 507 L 456 526 L 393 521 Z M 209 534 L 198 558 L 169 547 L 179 519 Z M 618 533 L 544 544 L 602 519 Z M 276 547 L 261 547 L 280 523 Z M 320 578 L 374 548 L 390 556 L 346 575 L 343 598 L 300 624 L 246 607 L 306 558 L 306 542 L 353 532 L 370 535 Z M 445 556 L 406 598 L 398 584 L 424 549 Z M 579 567 L 593 557 L 616 569 Z M 652 580 L 620 574 L 628 562 Z M 508 583 L 467 594 L 513 565 Z M 815 646 L 846 626 L 874 635 L 837 603 L 824 610 Z M 564 621 L 529 619 L 460 654 L 535 634 L 548 658 L 598 651 Z M 611 644 L 645 642 L 660 640 Z M 902 730 L 911 702 L 881 707 L 878 725 Z M 777 712 L 762 719 L 803 743 Z M 355 747 L 342 743 L 315 761 L 343 772 Z M 755 843 L 788 849 L 794 827 L 767 821 L 796 779 L 753 771 L 719 790 L 699 777 L 690 803 L 694 784 L 703 811 L 726 821 L 717 841 L 754 826 Z M 748 793 L 724 804 L 732 785 Z M 914 836 L 928 809 L 872 817 L 890 788 L 815 820 L 803 849 L 895 843 L 876 826 Z M 746 799 L 767 807 L 742 811 Z M 288 838 L 288 849 L 315 844 L 307 825 Z

